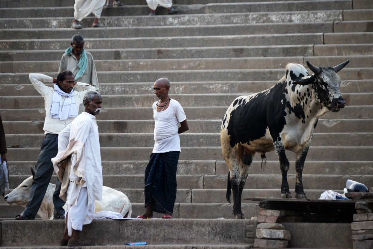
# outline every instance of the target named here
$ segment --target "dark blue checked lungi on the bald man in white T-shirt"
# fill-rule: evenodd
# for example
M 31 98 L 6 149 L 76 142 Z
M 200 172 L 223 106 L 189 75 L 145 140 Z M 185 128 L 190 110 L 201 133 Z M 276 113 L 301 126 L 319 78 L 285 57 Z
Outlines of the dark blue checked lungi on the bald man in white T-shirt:
M 145 207 L 153 201 L 154 212 L 173 213 L 179 155 L 179 151 L 150 155 L 145 169 Z

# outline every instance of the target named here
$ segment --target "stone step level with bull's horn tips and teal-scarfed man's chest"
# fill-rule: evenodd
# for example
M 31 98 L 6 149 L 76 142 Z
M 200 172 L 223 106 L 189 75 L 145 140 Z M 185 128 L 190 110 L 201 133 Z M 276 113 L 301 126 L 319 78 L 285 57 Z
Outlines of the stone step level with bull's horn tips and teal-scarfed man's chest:
M 313 65 L 335 66 L 350 60 L 349 67 L 367 67 L 373 64 L 373 56 L 333 56 L 333 57 L 250 57 L 250 58 L 202 58 L 202 59 L 148 59 L 148 60 L 95 60 L 97 71 L 157 71 L 198 70 L 198 69 L 266 69 L 285 68 L 286 63 L 305 64 L 309 60 Z M 51 72 L 59 68 L 60 61 L 17 61 L 0 62 L 0 72 Z M 35 94 L 37 95 L 37 94 Z M 4 96 L 4 95 L 3 95 Z

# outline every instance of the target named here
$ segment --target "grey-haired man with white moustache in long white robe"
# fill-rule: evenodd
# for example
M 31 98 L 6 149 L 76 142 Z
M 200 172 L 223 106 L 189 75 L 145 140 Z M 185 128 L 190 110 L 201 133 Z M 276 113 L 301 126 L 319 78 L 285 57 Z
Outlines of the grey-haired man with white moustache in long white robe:
M 74 150 L 70 153 L 71 167 L 69 168 L 69 182 L 66 191 L 66 225 L 60 241 L 61 246 L 95 245 L 93 242 L 82 240 L 80 231 L 82 231 L 83 225 L 90 224 L 93 220 L 95 200 L 102 200 L 100 142 L 95 118 L 95 115 L 101 111 L 101 103 L 102 98 L 99 93 L 88 92 L 83 99 L 85 112 L 63 129 L 58 136 L 59 152 L 56 158 L 52 159 L 54 164 L 63 159 L 64 153 L 65 155 L 70 153 L 68 152 L 70 141 L 78 141 L 84 149 L 80 150 L 81 153 L 74 153 Z M 63 179 L 63 181 L 65 180 Z

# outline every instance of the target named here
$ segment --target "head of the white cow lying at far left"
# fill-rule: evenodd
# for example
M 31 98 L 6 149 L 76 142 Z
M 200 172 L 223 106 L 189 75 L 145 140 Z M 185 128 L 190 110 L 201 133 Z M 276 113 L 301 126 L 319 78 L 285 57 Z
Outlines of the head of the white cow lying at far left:
M 35 171 L 31 168 L 32 176 L 24 180 L 21 184 L 18 185 L 12 192 L 7 194 L 4 197 L 6 203 L 12 205 L 13 203 L 25 207 L 28 203 L 28 197 L 31 192 L 31 185 L 34 181 Z

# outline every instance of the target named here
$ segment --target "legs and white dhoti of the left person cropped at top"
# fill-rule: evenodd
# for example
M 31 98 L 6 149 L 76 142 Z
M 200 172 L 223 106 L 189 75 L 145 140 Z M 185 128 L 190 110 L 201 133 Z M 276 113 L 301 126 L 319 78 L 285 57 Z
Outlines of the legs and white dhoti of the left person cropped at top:
M 105 25 L 99 22 L 105 2 L 106 0 L 75 0 L 74 21 L 71 27 L 75 29 L 83 28 L 82 25 L 79 24 L 79 22 L 82 21 L 82 19 L 86 18 L 90 13 L 93 13 L 93 15 L 95 16 L 92 24 L 93 28 L 105 27 Z

